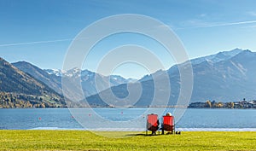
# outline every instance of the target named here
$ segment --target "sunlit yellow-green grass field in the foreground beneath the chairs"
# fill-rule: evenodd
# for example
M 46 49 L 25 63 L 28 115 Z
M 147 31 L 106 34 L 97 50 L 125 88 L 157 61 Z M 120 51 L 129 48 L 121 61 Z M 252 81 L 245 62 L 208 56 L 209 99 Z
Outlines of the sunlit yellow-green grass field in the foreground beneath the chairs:
M 0 131 L 0 150 L 256 150 L 256 132 L 182 132 L 144 136 L 143 132 Z

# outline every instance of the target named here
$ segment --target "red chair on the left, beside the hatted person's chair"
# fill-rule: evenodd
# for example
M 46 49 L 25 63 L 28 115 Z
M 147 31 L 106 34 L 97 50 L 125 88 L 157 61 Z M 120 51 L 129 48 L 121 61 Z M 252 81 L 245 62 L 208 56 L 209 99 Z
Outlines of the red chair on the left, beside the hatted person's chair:
M 153 114 L 153 113 L 152 114 L 148 114 L 146 134 L 148 135 L 148 131 L 152 131 L 152 134 L 155 134 L 155 131 L 158 131 L 158 130 L 159 130 L 158 115 L 157 114 Z

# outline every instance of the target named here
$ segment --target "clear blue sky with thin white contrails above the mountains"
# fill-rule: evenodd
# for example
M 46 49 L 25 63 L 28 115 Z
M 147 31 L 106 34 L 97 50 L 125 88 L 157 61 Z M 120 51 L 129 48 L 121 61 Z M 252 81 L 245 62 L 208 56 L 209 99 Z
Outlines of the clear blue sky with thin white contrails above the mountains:
M 67 1 L 0 0 L 0 56 L 10 62 L 29 61 L 41 68 L 61 68 L 72 39 L 96 20 L 110 15 L 148 15 L 170 26 L 190 58 L 235 48 L 256 51 L 256 1 Z M 146 45 L 167 69 L 175 63 L 160 45 L 139 35 L 116 35 L 98 44 L 84 62 L 96 63 L 121 44 Z M 102 50 L 103 49 L 103 50 Z M 141 78 L 148 71 L 134 64 L 114 71 Z

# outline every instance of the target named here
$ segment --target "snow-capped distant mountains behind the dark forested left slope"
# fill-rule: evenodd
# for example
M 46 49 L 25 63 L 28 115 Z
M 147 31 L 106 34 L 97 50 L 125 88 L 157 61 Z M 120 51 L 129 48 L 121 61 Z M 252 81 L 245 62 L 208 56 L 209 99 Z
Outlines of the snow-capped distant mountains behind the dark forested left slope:
M 73 68 L 69 71 L 61 71 L 54 69 L 43 70 L 26 61 L 19 61 L 12 64 L 24 73 L 28 73 L 32 75 L 33 78 L 36 78 L 42 81 L 44 84 L 47 84 L 51 89 L 55 90 L 59 94 L 62 94 L 62 75 L 65 75 L 70 78 L 81 78 L 82 89 L 84 90 L 85 96 L 90 96 L 96 94 L 98 91 L 106 90 L 110 86 L 128 83 L 129 81 L 133 80 L 125 79 L 117 75 L 102 76 L 100 74 L 90 72 L 89 70 L 80 71 L 79 68 Z M 96 90 L 95 84 L 96 76 L 99 79 L 98 90 Z M 108 81 L 110 81 L 110 86 L 108 85 Z

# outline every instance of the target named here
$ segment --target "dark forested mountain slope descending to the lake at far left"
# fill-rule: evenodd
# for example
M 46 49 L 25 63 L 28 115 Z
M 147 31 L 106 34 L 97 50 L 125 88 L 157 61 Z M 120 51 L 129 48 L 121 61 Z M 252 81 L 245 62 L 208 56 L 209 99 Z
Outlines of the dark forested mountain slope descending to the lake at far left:
M 32 76 L 23 73 L 9 62 L 0 58 L 0 104 L 9 102 L 15 104 L 16 99 L 26 101 L 32 105 L 44 104 L 46 107 L 64 107 L 63 98 L 50 89 L 46 84 L 38 81 Z M 8 104 L 5 103 L 6 106 Z M 43 106 L 42 106 L 43 107 Z

